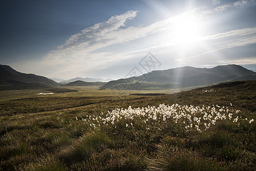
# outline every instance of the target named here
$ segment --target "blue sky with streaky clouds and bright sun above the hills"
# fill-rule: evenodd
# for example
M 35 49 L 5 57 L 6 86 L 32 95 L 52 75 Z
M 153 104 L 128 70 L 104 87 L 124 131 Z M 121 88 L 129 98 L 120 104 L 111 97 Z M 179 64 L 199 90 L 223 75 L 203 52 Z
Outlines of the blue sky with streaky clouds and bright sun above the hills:
M 255 16 L 256 0 L 1 0 L 0 64 L 59 79 L 225 64 L 256 71 Z

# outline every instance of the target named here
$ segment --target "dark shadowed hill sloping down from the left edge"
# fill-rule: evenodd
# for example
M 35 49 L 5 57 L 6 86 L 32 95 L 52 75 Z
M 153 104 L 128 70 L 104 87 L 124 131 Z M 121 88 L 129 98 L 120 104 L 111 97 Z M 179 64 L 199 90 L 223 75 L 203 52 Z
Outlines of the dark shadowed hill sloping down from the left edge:
M 54 87 L 59 83 L 35 74 L 24 74 L 0 64 L 0 90 Z

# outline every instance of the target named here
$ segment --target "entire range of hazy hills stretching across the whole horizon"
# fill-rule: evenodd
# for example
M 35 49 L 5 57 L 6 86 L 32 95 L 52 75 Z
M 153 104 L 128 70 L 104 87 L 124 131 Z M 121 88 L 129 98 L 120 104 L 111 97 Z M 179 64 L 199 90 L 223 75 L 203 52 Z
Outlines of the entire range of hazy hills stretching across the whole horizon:
M 78 79 L 78 80 L 77 80 Z M 0 90 L 8 89 L 38 89 L 60 88 L 62 86 L 98 86 L 101 89 L 174 89 L 204 87 L 221 82 L 233 82 L 238 80 L 256 80 L 256 72 L 247 70 L 238 65 L 230 64 L 214 68 L 179 67 L 169 70 L 148 72 L 141 76 L 126 79 L 111 80 L 107 83 L 85 78 L 90 82 L 75 78 L 68 80 L 70 83 L 56 83 L 44 76 L 24 74 L 15 71 L 10 66 L 0 65 Z M 66 90 L 65 90 L 66 91 Z M 68 90 L 67 90 L 68 91 Z

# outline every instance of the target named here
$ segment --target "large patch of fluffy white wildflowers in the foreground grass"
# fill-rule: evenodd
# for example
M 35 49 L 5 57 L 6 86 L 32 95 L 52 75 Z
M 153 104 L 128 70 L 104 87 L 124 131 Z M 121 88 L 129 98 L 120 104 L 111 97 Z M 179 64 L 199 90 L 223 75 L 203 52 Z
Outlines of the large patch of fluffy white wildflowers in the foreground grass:
M 160 104 L 159 107 L 132 108 L 129 106 L 127 109 L 116 108 L 111 112 L 108 111 L 107 114 L 101 112 L 101 115 L 97 117 L 87 115 L 82 120 L 88 121 L 92 128 L 103 125 L 115 126 L 116 124 L 123 124 L 124 128 L 133 128 L 136 124 L 143 124 L 143 127 L 149 130 L 150 128 L 156 128 L 156 123 L 160 123 L 160 125 L 178 124 L 185 131 L 196 130 L 201 132 L 223 120 L 237 123 L 238 126 L 240 120 L 245 120 L 250 124 L 254 122 L 254 119 L 248 120 L 247 118 L 238 117 L 239 112 L 239 110 L 230 110 L 228 107 L 219 105 L 194 107 L 193 105 Z M 76 120 L 78 120 L 77 117 Z

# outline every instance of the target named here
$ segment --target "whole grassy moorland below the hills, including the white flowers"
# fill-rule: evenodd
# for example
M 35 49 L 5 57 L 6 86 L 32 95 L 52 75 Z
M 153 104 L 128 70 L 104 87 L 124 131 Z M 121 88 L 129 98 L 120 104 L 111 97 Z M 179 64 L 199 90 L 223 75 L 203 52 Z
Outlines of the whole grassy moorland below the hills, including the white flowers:
M 76 91 L 0 91 L 0 170 L 256 169 L 255 81 L 181 92 L 68 88 Z

